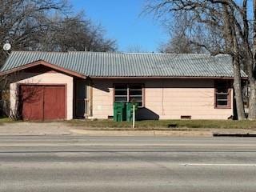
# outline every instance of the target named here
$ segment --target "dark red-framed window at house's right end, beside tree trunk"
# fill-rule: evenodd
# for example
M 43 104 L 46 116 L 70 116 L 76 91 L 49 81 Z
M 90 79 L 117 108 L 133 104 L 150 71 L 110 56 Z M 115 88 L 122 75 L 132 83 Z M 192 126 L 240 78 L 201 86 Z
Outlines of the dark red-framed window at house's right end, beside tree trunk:
M 229 82 L 215 82 L 215 107 L 230 108 L 231 107 L 231 91 Z

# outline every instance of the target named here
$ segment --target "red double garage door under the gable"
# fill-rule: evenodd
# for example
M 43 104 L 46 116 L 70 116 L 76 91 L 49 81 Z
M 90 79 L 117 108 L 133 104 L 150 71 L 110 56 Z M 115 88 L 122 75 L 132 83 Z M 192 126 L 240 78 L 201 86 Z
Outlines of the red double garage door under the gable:
M 20 91 L 24 120 L 66 118 L 66 86 L 22 85 Z

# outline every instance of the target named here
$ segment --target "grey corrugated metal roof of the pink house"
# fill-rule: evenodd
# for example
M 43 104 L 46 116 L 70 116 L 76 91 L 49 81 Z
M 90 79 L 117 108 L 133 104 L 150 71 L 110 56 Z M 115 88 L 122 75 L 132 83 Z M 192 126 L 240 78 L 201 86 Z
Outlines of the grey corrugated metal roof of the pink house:
M 44 60 L 89 77 L 233 77 L 230 56 L 13 51 L 0 72 Z M 242 71 L 242 77 L 246 74 Z

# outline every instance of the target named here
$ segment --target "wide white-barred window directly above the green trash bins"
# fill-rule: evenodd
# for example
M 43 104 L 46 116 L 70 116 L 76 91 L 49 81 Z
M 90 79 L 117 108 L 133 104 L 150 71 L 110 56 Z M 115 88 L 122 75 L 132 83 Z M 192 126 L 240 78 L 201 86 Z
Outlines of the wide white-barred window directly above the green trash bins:
M 114 102 L 138 102 L 143 106 L 143 86 L 141 84 L 116 84 Z

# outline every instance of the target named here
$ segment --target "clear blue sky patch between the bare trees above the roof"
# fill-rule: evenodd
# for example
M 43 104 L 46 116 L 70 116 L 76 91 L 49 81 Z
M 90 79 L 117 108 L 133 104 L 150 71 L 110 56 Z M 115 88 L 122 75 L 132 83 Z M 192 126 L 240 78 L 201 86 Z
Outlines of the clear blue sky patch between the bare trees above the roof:
M 141 14 L 145 0 L 70 0 L 76 11 L 85 10 L 88 18 L 106 29 L 106 37 L 117 40 L 118 50 L 139 46 L 157 52 L 168 35 L 150 15 Z

